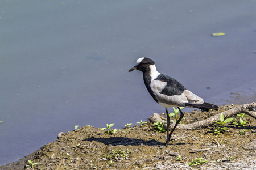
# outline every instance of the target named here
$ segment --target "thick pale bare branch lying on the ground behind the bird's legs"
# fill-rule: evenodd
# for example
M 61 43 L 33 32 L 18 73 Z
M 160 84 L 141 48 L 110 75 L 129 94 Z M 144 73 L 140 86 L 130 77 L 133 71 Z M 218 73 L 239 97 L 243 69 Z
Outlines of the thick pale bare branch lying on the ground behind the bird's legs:
M 256 112 L 253 110 L 253 108 L 256 107 L 256 103 L 253 102 L 251 104 L 242 104 L 242 105 L 238 105 L 237 107 L 234 107 L 228 111 L 224 111 L 222 112 L 224 118 L 229 118 L 232 116 L 236 116 L 237 114 L 240 113 L 245 113 L 253 118 L 256 119 Z M 189 125 L 184 125 L 184 124 L 179 124 L 177 125 L 176 129 L 196 129 L 196 128 L 205 128 L 207 126 L 213 125 L 215 124 L 214 121 L 220 121 L 220 115 L 221 113 L 218 113 L 210 118 L 207 118 L 203 121 L 199 121 L 199 122 L 195 122 L 193 124 L 189 124 Z M 163 119 L 161 116 L 159 116 L 159 114 L 154 113 L 150 118 L 149 118 L 150 122 L 158 122 L 158 121 L 162 121 L 164 124 L 164 128 L 167 128 L 167 121 L 165 119 Z M 174 127 L 176 122 L 173 122 L 170 126 L 171 128 Z

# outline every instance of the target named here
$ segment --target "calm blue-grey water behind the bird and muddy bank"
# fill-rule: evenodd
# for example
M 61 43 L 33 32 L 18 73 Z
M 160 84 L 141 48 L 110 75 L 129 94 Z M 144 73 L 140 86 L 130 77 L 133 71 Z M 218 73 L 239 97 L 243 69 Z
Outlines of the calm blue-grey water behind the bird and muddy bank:
M 210 103 L 255 101 L 255 7 L 255 1 L 1 1 L 0 165 L 74 125 L 120 129 L 164 112 L 142 73 L 128 73 L 140 57 Z

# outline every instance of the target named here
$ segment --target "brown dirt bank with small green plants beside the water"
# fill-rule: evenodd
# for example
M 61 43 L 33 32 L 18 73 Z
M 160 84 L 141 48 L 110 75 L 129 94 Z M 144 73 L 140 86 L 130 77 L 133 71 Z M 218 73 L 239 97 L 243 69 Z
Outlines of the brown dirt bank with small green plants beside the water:
M 185 113 L 181 123 L 191 124 L 233 107 Z M 225 124 L 227 131 L 218 135 L 214 135 L 215 126 L 176 129 L 167 147 L 166 132 L 159 133 L 149 121 L 114 134 L 86 126 L 63 133 L 27 156 L 26 162 L 6 169 L 256 169 L 256 121 L 244 120 L 247 124 L 242 127 Z M 28 159 L 37 164 L 32 167 Z

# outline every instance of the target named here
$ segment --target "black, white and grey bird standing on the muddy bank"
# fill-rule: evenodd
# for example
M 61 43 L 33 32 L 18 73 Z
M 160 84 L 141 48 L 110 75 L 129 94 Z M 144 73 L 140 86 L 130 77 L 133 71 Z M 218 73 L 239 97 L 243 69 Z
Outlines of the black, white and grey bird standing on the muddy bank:
M 218 109 L 217 105 L 206 103 L 203 98 L 187 90 L 187 88 L 185 88 L 176 79 L 159 73 L 156 70 L 155 62 L 150 58 L 141 57 L 137 59 L 135 66 L 132 67 L 129 72 L 133 70 L 142 71 L 144 84 L 146 85 L 148 92 L 157 103 L 164 107 L 166 111 L 166 146 L 168 146 L 172 133 L 184 116 L 184 113 L 181 111 L 180 107 L 198 108 L 205 112 L 208 112 L 209 109 Z M 180 118 L 176 121 L 176 124 L 174 125 L 174 128 L 172 128 L 170 134 L 170 116 L 168 113 L 169 107 L 177 107 L 177 109 L 180 111 Z

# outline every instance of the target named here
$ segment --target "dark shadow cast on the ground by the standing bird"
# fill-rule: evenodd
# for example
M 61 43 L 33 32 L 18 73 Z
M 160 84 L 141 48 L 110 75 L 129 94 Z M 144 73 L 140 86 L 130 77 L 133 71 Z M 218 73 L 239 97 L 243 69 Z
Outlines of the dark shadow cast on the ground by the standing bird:
M 105 145 L 131 145 L 131 146 L 139 146 L 139 145 L 147 145 L 147 146 L 164 146 L 164 143 L 158 142 L 155 139 L 152 140 L 143 140 L 143 139 L 134 139 L 134 138 L 125 138 L 125 137 L 110 137 L 110 138 L 85 138 L 83 141 L 97 141 L 104 143 Z M 185 145 L 186 143 L 175 143 L 175 145 Z M 169 145 L 174 145 L 169 143 Z

